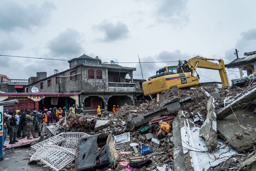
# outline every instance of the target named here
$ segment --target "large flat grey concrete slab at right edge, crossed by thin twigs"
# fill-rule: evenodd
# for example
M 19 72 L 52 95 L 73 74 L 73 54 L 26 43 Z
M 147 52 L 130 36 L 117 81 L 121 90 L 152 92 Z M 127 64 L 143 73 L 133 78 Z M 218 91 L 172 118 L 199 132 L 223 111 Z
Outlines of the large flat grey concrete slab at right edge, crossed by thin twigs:
M 247 146 L 248 148 L 251 148 L 255 145 L 252 138 L 256 137 L 256 132 L 249 133 L 249 131 L 256 130 L 256 127 L 254 126 L 256 115 L 252 111 L 244 111 L 242 109 L 236 111 L 236 115 L 242 130 L 245 130 L 245 133 L 243 134 L 245 143 L 242 136 L 239 138 L 234 137 L 235 134 L 240 132 L 240 127 L 234 114 L 227 116 L 224 120 L 217 120 L 217 131 L 219 136 L 224 140 L 229 140 L 234 137 L 229 145 L 237 152 L 242 153 L 247 151 Z

